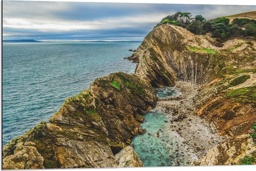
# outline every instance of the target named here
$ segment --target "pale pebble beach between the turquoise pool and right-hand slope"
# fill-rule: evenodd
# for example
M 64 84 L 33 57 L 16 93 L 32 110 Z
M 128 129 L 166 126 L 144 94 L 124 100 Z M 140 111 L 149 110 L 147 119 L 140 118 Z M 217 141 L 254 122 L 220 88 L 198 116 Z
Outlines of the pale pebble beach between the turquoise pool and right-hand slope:
M 176 87 L 182 91 L 182 95 L 161 99 L 156 109 L 168 114 L 168 130 L 178 134 L 176 143 L 180 152 L 184 152 L 191 160 L 198 160 L 224 138 L 217 135 L 213 123 L 195 115 L 193 98 L 197 94 L 198 86 L 178 81 Z

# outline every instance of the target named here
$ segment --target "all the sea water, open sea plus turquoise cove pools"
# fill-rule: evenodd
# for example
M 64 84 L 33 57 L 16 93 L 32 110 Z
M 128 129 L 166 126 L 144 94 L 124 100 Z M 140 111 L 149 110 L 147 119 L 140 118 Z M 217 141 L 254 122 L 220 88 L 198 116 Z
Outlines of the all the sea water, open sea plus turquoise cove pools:
M 113 72 L 135 72 L 124 57 L 141 42 L 3 43 L 2 145 L 48 121 L 65 99 L 88 89 L 94 79 Z M 159 98 L 181 95 L 175 87 L 157 91 Z M 172 166 L 187 159 L 177 153 L 178 135 L 169 131 L 168 115 L 152 110 L 143 115 L 147 130 L 132 145 L 144 166 Z M 160 137 L 156 134 L 160 132 Z

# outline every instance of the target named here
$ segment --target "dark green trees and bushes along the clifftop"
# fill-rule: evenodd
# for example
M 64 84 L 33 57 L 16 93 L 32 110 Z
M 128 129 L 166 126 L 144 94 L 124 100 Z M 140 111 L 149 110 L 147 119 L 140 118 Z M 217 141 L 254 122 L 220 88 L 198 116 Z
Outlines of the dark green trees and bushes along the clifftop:
M 202 15 L 196 15 L 195 18 L 192 18 L 191 13 L 177 12 L 163 18 L 156 27 L 162 24 L 175 24 L 194 34 L 211 33 L 212 37 L 219 42 L 216 46 L 222 46 L 223 42 L 234 37 L 256 40 L 256 20 L 237 18 L 232 23 L 229 21 L 228 17 L 207 21 Z

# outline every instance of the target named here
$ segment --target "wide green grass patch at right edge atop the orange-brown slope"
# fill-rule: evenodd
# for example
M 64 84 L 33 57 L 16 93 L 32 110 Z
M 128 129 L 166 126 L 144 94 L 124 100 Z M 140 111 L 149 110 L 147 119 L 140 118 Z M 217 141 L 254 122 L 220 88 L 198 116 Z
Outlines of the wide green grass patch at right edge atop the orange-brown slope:
M 256 85 L 227 91 L 226 96 L 239 103 L 256 105 Z

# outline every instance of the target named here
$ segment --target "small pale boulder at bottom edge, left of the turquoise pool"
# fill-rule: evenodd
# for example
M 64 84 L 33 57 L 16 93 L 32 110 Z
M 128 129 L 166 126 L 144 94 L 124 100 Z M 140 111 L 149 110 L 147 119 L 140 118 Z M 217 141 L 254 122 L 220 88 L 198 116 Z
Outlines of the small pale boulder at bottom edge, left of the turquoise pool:
M 143 164 L 131 146 L 127 146 L 115 155 L 117 167 L 143 167 Z

